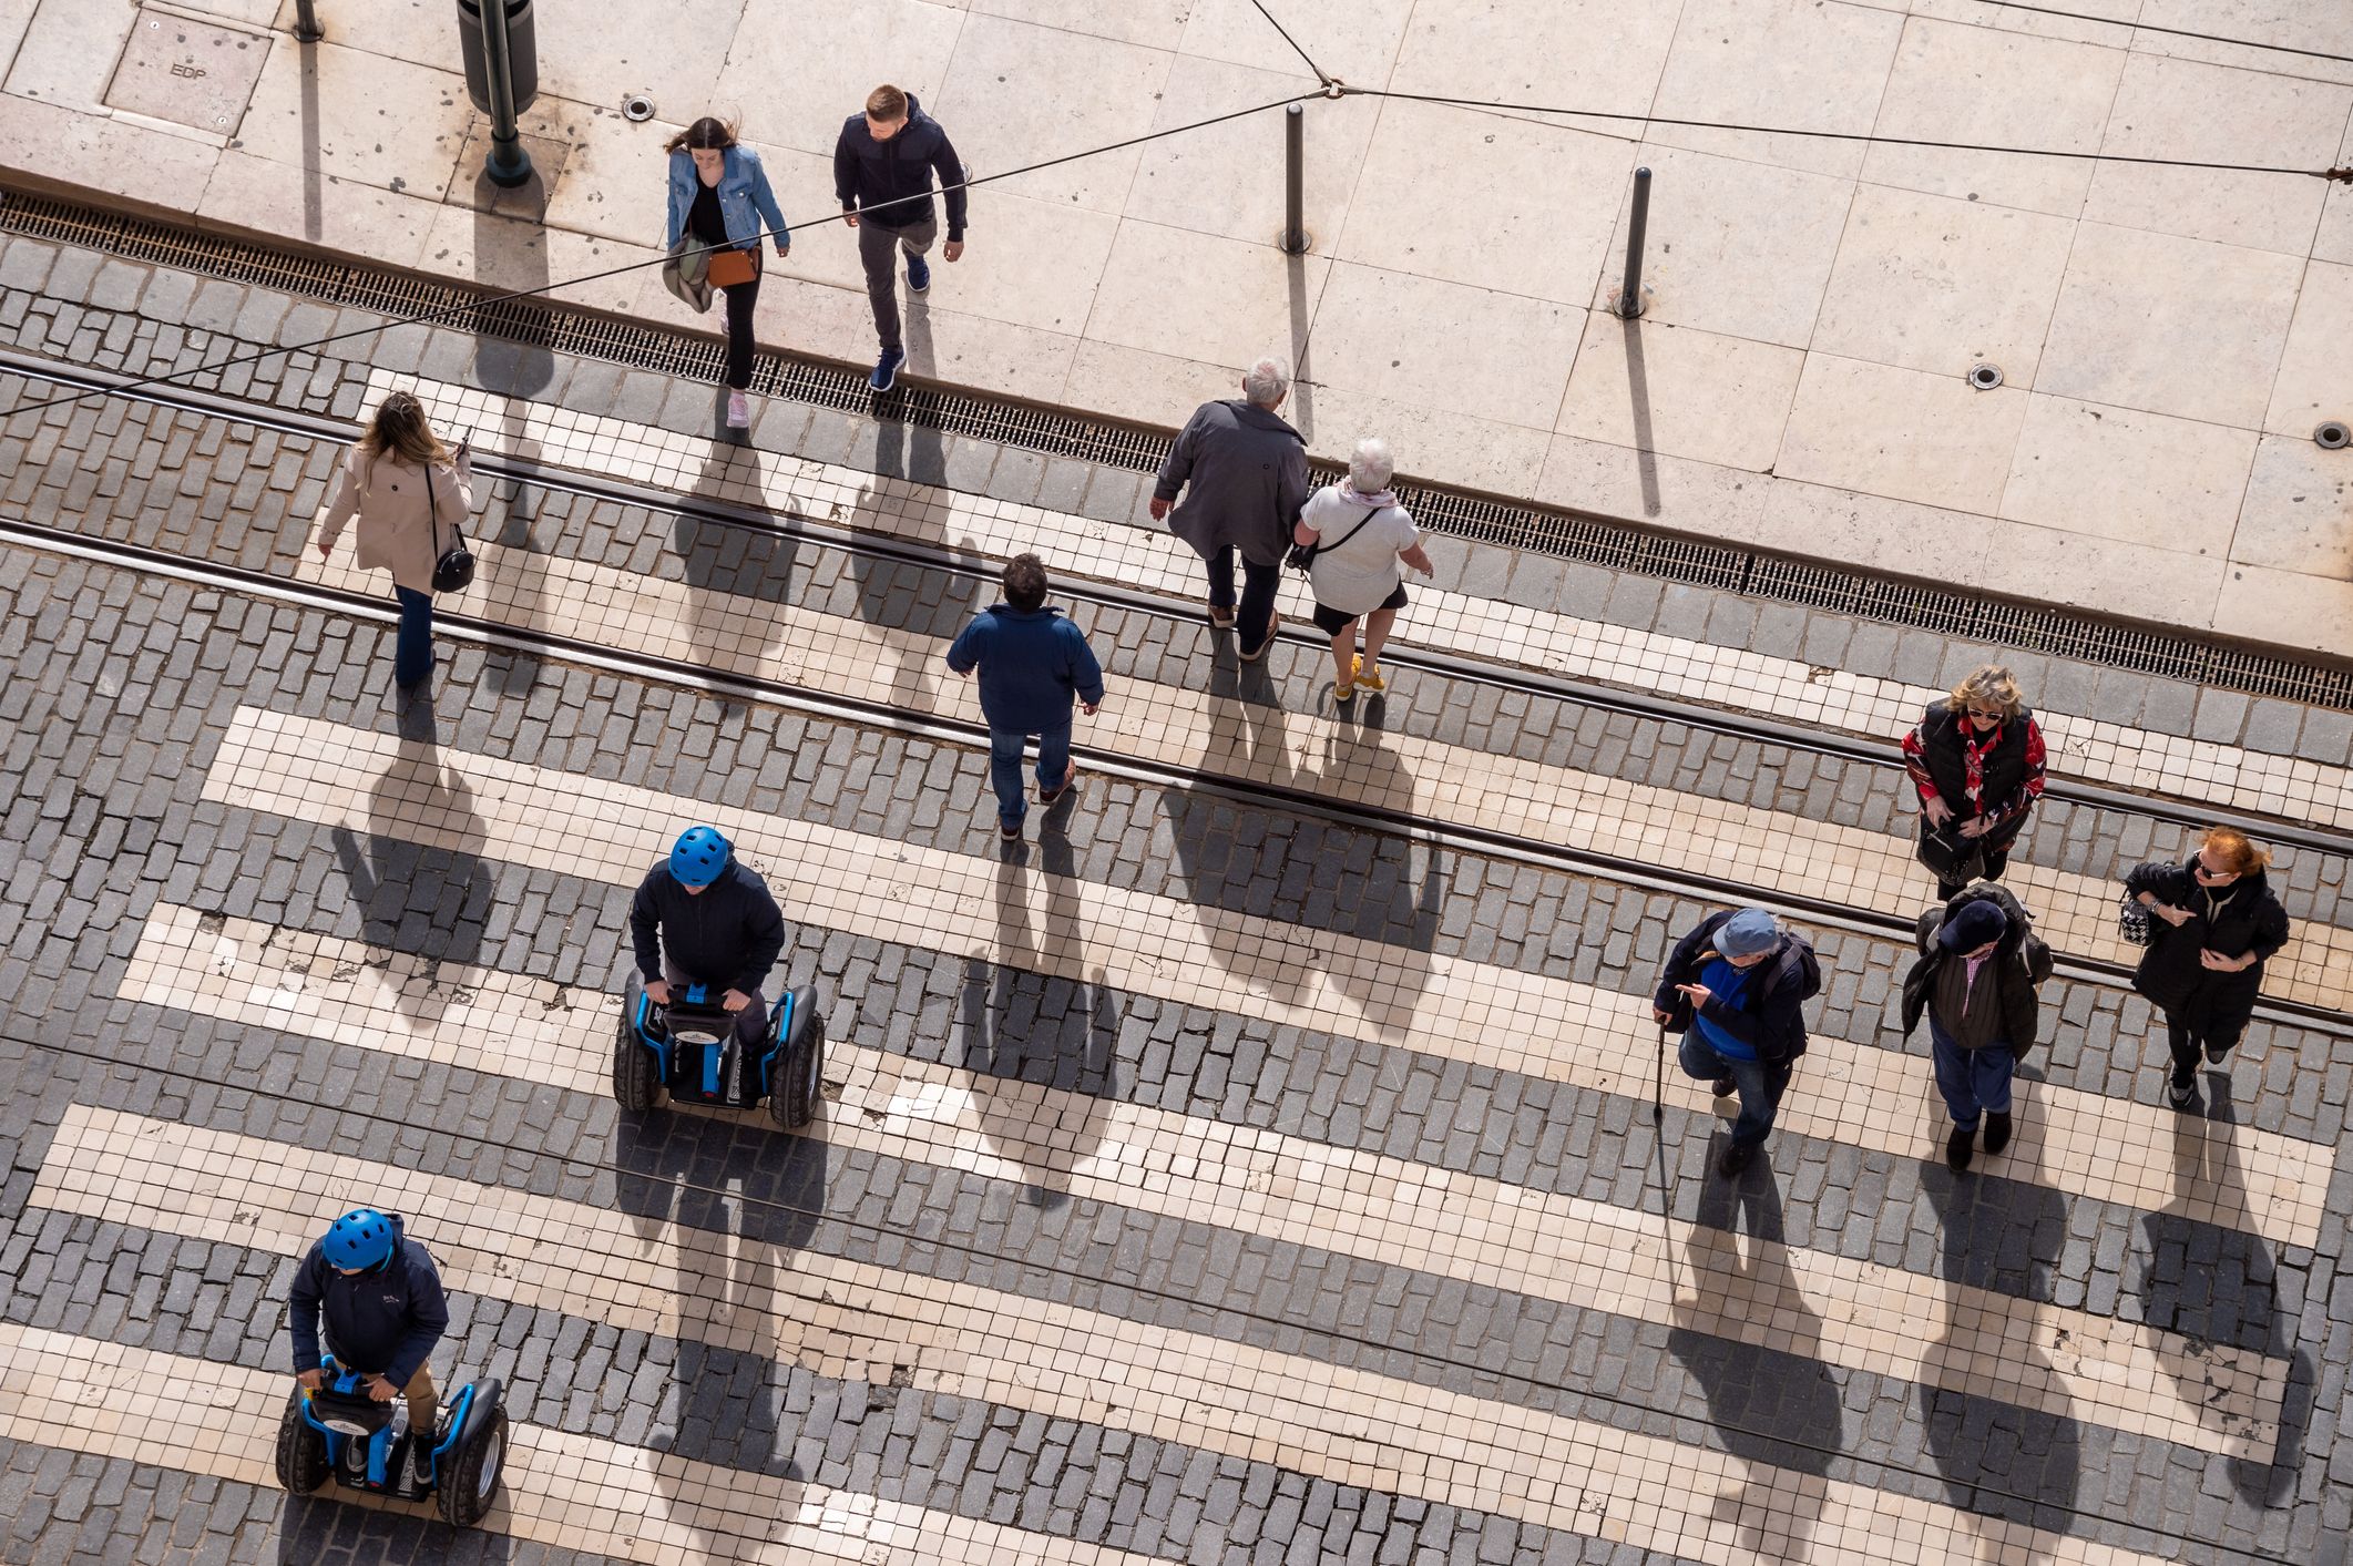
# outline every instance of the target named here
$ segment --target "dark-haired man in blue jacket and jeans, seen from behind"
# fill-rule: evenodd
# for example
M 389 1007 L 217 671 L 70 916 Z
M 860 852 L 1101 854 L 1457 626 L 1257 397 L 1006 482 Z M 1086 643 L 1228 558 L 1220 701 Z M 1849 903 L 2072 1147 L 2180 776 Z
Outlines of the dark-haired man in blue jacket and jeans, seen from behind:
M 1104 665 L 1087 637 L 1045 607 L 1045 562 L 1014 555 L 1005 562 L 1005 602 L 972 616 L 948 647 L 958 675 L 981 670 L 981 715 L 988 720 L 988 781 L 998 790 L 998 832 L 1021 837 L 1028 802 L 1021 797 L 1021 750 L 1038 736 L 1038 804 L 1054 804 L 1078 762 L 1071 759 L 1071 698 L 1092 717 L 1104 703 Z

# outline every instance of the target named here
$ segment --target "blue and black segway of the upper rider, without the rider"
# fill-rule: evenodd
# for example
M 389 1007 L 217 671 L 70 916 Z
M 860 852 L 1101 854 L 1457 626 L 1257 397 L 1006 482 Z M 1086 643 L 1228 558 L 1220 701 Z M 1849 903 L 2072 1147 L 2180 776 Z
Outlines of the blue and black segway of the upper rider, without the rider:
M 800 1131 L 816 1115 L 826 1068 L 816 988 L 788 990 L 751 1051 L 736 1046 L 736 1018 L 720 1006 L 720 995 L 715 985 L 671 985 L 671 1004 L 659 1006 L 631 973 L 612 1046 L 614 1103 L 652 1110 L 668 1096 L 673 1103 L 751 1110 L 767 1100 L 776 1126 Z

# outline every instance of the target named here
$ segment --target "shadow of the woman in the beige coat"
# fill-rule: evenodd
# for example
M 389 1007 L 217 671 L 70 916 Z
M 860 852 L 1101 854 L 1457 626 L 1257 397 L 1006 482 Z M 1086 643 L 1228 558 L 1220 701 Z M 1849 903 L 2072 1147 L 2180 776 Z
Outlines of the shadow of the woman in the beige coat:
M 456 846 L 426 846 L 421 835 Z M 456 999 L 438 966 L 480 962 L 499 891 L 482 858 L 487 832 L 473 788 L 442 764 L 431 738 L 402 738 L 367 790 L 367 842 L 341 825 L 329 837 L 360 910 L 360 941 L 431 964 L 395 992 L 393 1004 L 412 1025 L 435 1023 Z

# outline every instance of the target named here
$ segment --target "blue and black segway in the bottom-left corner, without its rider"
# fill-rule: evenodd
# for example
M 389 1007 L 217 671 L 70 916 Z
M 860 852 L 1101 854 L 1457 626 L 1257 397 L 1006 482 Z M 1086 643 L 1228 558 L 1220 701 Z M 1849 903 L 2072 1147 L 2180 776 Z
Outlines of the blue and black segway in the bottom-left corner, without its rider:
M 506 1463 L 506 1408 L 496 1380 L 461 1387 L 442 1406 L 440 1430 L 419 1434 L 409 1430 L 405 1399 L 379 1404 L 367 1394 L 367 1378 L 339 1366 L 332 1354 L 320 1368 L 318 1392 L 294 1387 L 278 1420 L 278 1484 L 296 1495 L 334 1479 L 393 1500 L 431 1498 L 452 1528 L 473 1528 L 489 1517 Z M 424 1484 L 409 1460 L 416 1441 L 433 1441 Z

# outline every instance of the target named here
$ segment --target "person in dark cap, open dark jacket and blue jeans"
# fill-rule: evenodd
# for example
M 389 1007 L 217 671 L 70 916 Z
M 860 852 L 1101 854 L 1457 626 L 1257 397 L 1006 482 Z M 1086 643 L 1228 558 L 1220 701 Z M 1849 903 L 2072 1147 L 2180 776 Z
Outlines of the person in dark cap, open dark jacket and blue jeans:
M 1953 1115 L 1944 1162 L 1969 1166 L 1977 1126 L 1986 1152 L 2009 1145 L 2009 1077 L 2035 1046 L 2042 1002 L 2035 985 L 2049 978 L 2052 952 L 2033 919 L 2000 886 L 1972 886 L 1918 926 L 1920 957 L 1904 976 L 1904 1032 L 1927 1016 L 1937 1091 Z

